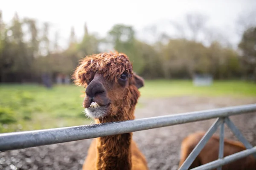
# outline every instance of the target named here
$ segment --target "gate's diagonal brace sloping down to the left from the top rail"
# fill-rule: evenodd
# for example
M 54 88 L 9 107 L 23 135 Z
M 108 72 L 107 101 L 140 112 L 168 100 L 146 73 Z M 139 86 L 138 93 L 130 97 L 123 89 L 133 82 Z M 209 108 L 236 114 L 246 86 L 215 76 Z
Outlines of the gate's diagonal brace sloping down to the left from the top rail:
M 218 126 L 223 123 L 223 119 L 218 118 L 212 126 L 209 128 L 207 133 L 204 134 L 203 138 L 198 142 L 198 144 L 195 146 L 195 148 L 192 150 L 192 152 L 189 154 L 189 156 L 186 158 L 184 163 L 180 166 L 179 170 L 187 170 L 189 169 L 190 165 L 195 161 L 195 158 L 198 156 L 198 154 L 201 152 L 201 150 L 204 148 L 204 146 L 207 144 L 209 139 L 212 137 L 213 133 L 216 132 L 218 129 Z

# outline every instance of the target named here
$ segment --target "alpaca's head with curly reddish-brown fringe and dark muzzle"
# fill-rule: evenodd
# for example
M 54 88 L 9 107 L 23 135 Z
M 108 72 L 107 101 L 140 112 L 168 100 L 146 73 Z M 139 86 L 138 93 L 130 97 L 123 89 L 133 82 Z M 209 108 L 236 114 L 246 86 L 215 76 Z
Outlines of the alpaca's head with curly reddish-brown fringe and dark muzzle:
M 138 89 L 144 86 L 128 57 L 117 52 L 85 57 L 73 78 L 76 85 L 86 88 L 83 107 L 87 116 L 94 119 L 118 119 L 120 110 L 133 111 L 140 96 Z

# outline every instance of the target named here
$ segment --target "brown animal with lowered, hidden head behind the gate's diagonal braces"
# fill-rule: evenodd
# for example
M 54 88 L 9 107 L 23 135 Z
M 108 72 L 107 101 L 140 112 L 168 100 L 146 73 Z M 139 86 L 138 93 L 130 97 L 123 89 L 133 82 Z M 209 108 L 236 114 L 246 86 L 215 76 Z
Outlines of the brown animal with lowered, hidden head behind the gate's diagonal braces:
M 198 142 L 202 139 L 205 132 L 197 132 L 190 134 L 183 139 L 181 144 L 181 156 L 179 167 L 183 164 Z M 218 159 L 219 150 L 219 136 L 212 136 L 204 148 L 201 150 L 195 161 L 191 164 L 189 169 L 207 164 Z M 224 139 L 224 157 L 232 155 L 233 153 L 246 150 L 241 142 Z M 222 170 L 256 170 L 256 159 L 250 155 L 242 159 L 226 164 Z

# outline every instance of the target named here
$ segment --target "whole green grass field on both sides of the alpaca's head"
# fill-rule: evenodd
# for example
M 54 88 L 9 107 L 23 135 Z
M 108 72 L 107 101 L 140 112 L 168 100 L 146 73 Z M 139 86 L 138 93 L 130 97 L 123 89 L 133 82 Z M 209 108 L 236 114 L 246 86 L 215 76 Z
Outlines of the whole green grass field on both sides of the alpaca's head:
M 80 97 L 82 87 L 74 85 L 0 85 L 0 133 L 84 125 Z M 209 87 L 194 87 L 191 81 L 146 81 L 140 89 L 142 98 L 171 96 L 256 97 L 256 84 L 241 81 L 215 81 Z M 140 103 L 138 107 L 140 107 Z

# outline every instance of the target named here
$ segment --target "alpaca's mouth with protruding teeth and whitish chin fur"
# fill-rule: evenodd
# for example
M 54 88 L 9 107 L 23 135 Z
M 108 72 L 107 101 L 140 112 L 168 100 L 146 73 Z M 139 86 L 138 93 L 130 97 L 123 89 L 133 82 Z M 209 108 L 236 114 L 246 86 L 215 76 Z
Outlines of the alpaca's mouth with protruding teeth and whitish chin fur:
M 85 108 L 85 113 L 87 114 L 87 116 L 93 119 L 100 119 L 107 115 L 109 105 L 110 104 L 105 106 L 100 106 L 98 103 L 92 102 L 90 104 L 90 107 Z

